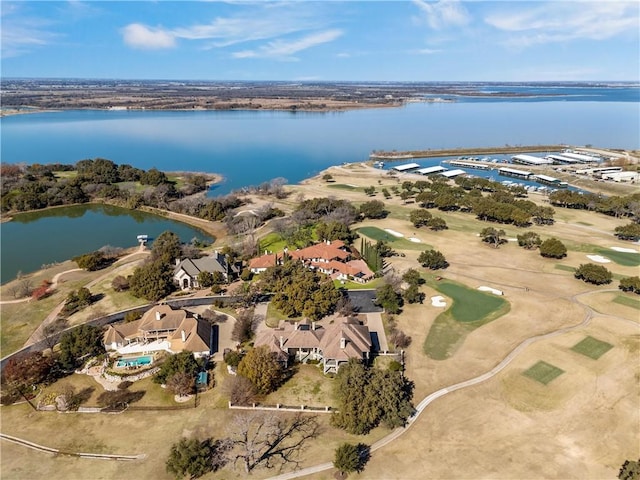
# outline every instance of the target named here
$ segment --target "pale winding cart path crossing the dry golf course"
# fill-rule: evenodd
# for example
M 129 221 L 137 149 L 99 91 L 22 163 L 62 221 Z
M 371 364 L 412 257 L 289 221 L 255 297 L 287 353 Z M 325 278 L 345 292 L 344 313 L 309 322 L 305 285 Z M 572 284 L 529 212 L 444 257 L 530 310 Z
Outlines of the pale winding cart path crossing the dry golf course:
M 617 290 L 615 290 L 615 291 L 617 291 Z M 599 316 L 613 318 L 613 319 L 616 319 L 616 320 L 624 320 L 624 321 L 629 322 L 629 320 L 627 320 L 625 318 L 621 318 L 621 317 L 616 317 L 616 316 L 612 316 L 612 315 L 606 315 L 606 314 L 602 314 L 602 313 L 599 313 L 599 312 L 595 312 L 590 306 L 585 305 L 584 303 L 580 302 L 580 300 L 578 299 L 578 297 L 581 297 L 581 296 L 584 296 L 584 295 L 590 295 L 590 294 L 592 294 L 594 292 L 602 292 L 602 290 L 590 290 L 588 292 L 578 293 L 576 295 L 573 295 L 573 296 L 569 297 L 569 300 L 572 303 L 575 303 L 575 304 L 581 306 L 585 310 L 584 319 L 580 323 L 578 323 L 576 325 L 569 326 L 569 327 L 563 327 L 563 328 L 560 328 L 558 330 L 554 330 L 552 332 L 543 333 L 543 334 L 540 334 L 540 335 L 529 337 L 526 340 L 523 340 L 520 344 L 518 344 L 518 346 L 516 346 L 510 353 L 508 353 L 507 356 L 504 357 L 501 362 L 499 362 L 495 367 L 493 367 L 488 372 L 483 373 L 481 375 L 478 375 L 477 377 L 471 378 L 469 380 L 465 380 L 464 382 L 456 383 L 456 384 L 451 385 L 449 387 L 441 388 L 440 390 L 437 390 L 437 391 L 433 392 L 432 394 L 426 396 L 416 406 L 416 411 L 413 414 L 413 416 L 408 419 L 407 425 L 405 427 L 396 428 L 391 433 L 389 433 L 387 436 L 381 438 L 380 440 L 375 442 L 373 445 L 371 445 L 371 450 L 370 450 L 371 453 L 373 453 L 376 450 L 388 445 L 389 443 L 393 442 L 396 438 L 398 438 L 400 435 L 405 433 L 411 427 L 411 425 L 413 425 L 414 422 L 418 419 L 420 414 L 432 402 L 436 401 L 438 398 L 443 397 L 443 396 L 445 396 L 445 395 L 447 395 L 449 393 L 453 393 L 453 392 L 455 392 L 457 390 L 461 390 L 463 388 L 467 388 L 467 387 L 471 387 L 471 386 L 477 385 L 479 383 L 482 383 L 482 382 L 484 382 L 486 380 L 489 380 L 489 379 L 493 378 L 495 375 L 500 373 L 507 365 L 509 365 L 518 356 L 518 354 L 520 354 L 525 348 L 527 348 L 532 343 L 538 342 L 540 340 L 545 340 L 545 339 L 548 339 L 548 338 L 557 337 L 559 335 L 563 335 L 565 333 L 584 328 L 587 325 L 589 325 L 589 323 L 591 322 L 591 319 L 594 317 L 594 315 L 599 315 Z M 633 325 L 637 326 L 637 327 L 640 327 L 640 324 L 637 324 L 635 322 L 631 322 L 631 323 Z M 319 472 L 322 472 L 322 471 L 325 471 L 325 470 L 330 470 L 332 468 L 334 468 L 333 467 L 333 462 L 321 463 L 319 465 L 314 465 L 314 466 L 311 466 L 311 467 L 303 468 L 301 470 L 297 470 L 297 471 L 294 471 L 294 472 L 289 472 L 289 473 L 284 473 L 282 475 L 277 475 L 275 477 L 271 477 L 269 480 L 289 480 L 289 479 L 293 479 L 293 478 L 304 477 L 306 475 L 312 475 L 312 474 L 319 473 Z

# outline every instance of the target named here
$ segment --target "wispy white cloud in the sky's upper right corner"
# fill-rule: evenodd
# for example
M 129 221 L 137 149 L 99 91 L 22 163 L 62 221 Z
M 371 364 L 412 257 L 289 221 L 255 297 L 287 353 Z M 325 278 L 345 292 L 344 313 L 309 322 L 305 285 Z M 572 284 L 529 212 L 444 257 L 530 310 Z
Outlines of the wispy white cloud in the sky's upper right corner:
M 576 39 L 604 40 L 630 33 L 640 24 L 637 3 L 547 2 L 534 8 L 495 12 L 484 21 L 511 34 L 512 46 L 565 42 Z

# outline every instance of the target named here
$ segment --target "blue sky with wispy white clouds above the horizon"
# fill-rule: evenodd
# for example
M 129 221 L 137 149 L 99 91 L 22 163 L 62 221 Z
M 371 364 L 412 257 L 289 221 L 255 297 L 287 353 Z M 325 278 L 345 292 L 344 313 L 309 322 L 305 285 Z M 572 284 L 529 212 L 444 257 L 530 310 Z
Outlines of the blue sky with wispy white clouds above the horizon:
M 640 80 L 640 2 L 2 0 L 2 76 Z

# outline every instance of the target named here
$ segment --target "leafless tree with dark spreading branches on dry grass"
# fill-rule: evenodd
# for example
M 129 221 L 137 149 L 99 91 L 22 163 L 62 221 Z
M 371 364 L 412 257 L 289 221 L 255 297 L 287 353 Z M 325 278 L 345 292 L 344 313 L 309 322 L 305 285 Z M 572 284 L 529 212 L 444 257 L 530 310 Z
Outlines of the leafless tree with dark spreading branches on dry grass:
M 235 417 L 229 434 L 234 466 L 240 462 L 247 473 L 258 466 L 282 470 L 291 463 L 298 467 L 300 452 L 308 439 L 318 436 L 319 425 L 315 416 L 300 413 L 288 419 L 253 414 Z

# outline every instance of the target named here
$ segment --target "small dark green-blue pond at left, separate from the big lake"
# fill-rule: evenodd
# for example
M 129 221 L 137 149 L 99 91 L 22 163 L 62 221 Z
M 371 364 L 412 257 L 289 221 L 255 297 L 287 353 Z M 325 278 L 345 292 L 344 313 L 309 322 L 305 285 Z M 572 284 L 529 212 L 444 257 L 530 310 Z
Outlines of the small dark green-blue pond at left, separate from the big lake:
M 132 247 L 136 237 L 156 238 L 165 230 L 183 242 L 211 240 L 206 233 L 158 215 L 110 205 L 77 205 L 16 215 L 2 224 L 0 251 L 2 282 L 38 270 L 43 264 L 61 262 L 105 245 Z

